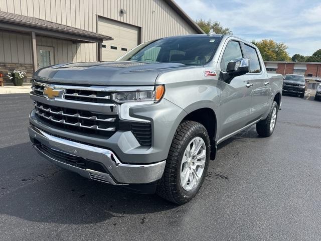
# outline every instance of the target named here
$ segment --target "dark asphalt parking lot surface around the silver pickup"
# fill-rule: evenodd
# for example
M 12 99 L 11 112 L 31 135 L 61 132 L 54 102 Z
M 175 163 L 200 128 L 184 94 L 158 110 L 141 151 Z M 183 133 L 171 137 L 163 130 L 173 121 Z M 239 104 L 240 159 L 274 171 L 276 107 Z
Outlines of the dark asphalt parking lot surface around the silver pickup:
M 321 101 L 282 96 L 274 134 L 220 144 L 182 206 L 53 166 L 29 142 L 28 94 L 0 103 L 0 240 L 321 239 Z

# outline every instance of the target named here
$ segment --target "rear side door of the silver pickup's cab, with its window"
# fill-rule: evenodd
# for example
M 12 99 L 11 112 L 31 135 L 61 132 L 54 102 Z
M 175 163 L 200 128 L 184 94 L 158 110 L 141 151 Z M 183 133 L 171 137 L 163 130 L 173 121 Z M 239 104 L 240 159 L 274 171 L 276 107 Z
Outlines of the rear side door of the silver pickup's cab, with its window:
M 253 119 L 259 119 L 269 108 L 269 81 L 266 72 L 263 71 L 256 49 L 245 43 L 241 43 L 241 46 L 244 58 L 250 59 L 250 72 L 246 75 L 249 76 L 253 82 L 251 116 Z

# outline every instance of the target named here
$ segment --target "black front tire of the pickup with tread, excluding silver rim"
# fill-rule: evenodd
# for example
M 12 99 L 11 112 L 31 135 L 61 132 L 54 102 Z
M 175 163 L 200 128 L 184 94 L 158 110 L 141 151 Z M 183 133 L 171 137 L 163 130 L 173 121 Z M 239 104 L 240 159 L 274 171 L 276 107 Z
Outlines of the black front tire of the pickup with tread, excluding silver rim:
M 188 144 L 195 137 L 200 137 L 205 142 L 206 162 L 202 176 L 195 188 L 186 191 L 181 185 L 181 163 Z M 183 121 L 175 132 L 166 160 L 164 174 L 162 179 L 158 181 L 156 193 L 164 199 L 177 204 L 184 204 L 190 201 L 198 193 L 204 182 L 210 161 L 210 150 L 210 138 L 205 127 L 197 122 Z

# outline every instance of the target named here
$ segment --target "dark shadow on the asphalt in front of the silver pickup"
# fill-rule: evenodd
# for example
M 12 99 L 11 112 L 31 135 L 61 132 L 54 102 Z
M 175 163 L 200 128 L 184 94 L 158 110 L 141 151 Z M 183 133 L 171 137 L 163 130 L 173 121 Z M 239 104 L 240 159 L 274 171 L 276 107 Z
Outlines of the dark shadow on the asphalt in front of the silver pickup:
M 177 207 L 156 195 L 132 193 L 60 169 L 37 155 L 30 143 L 0 149 L 0 160 L 2 166 L 10 162 L 0 171 L 1 214 L 35 222 L 88 224 Z

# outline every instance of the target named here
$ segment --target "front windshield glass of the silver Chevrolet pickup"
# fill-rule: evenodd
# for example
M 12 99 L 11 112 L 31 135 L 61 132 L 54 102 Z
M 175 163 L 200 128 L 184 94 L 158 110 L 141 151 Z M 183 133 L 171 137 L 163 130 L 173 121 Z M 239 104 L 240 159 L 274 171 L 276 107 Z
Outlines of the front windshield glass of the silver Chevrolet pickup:
M 138 46 L 119 60 L 204 65 L 213 58 L 220 41 L 220 37 L 211 36 L 158 39 Z

